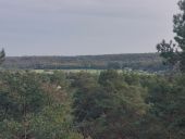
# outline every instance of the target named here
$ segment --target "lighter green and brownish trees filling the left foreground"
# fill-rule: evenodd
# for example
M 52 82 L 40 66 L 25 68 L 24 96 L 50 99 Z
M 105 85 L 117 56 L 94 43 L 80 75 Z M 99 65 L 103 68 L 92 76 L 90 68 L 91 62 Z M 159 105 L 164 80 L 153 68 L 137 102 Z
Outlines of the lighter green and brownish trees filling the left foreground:
M 63 74 L 0 73 L 0 139 L 82 139 Z

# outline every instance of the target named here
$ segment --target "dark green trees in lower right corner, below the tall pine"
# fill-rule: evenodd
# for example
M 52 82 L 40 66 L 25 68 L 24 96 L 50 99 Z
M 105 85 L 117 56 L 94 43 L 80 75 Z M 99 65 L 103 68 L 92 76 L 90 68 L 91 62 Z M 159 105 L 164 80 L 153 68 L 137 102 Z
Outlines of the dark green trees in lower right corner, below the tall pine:
M 184 138 L 185 88 L 184 75 L 181 76 L 157 77 L 147 85 L 149 89 L 147 102 L 151 108 L 143 119 L 141 131 L 147 131 L 141 139 Z

